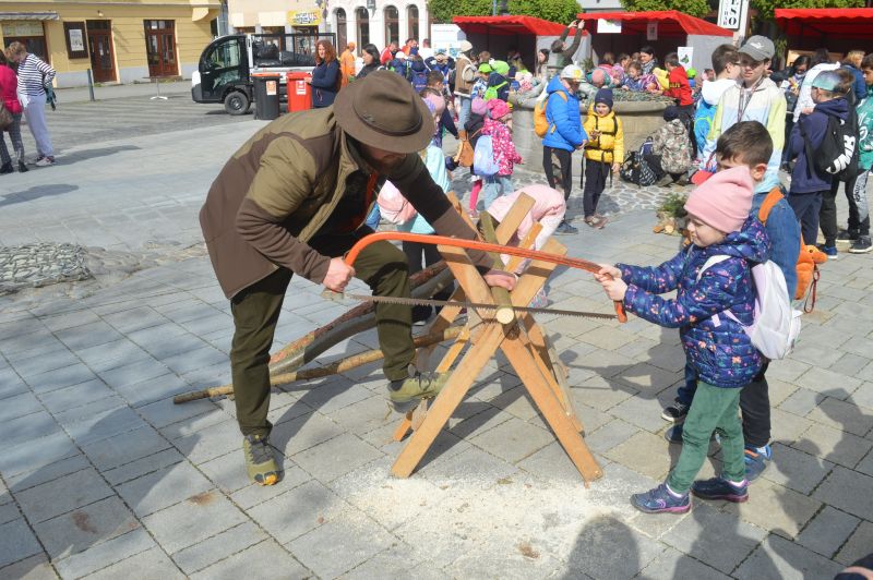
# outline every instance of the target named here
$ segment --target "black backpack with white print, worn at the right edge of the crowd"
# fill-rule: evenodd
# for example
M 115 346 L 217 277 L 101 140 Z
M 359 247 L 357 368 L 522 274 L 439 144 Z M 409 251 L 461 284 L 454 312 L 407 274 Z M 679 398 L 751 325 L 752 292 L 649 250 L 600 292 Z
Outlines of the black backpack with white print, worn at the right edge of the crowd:
M 800 134 L 803 137 L 808 160 L 806 173 L 810 178 L 812 177 L 810 161 L 816 173 L 820 176 L 828 173 L 839 181 L 850 181 L 858 174 L 858 121 L 852 114 L 853 110 L 849 107 L 847 121 L 827 116 L 825 135 L 815 150 L 806 135 L 804 123 L 800 123 Z

